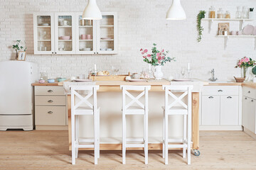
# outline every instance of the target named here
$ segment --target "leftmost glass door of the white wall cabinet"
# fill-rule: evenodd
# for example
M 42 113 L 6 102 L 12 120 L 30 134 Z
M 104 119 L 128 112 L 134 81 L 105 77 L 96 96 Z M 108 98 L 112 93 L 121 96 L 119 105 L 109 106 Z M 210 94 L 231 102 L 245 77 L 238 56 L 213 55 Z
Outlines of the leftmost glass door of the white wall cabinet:
M 34 24 L 34 53 L 53 54 L 54 52 L 54 30 L 53 14 L 35 13 L 33 16 Z

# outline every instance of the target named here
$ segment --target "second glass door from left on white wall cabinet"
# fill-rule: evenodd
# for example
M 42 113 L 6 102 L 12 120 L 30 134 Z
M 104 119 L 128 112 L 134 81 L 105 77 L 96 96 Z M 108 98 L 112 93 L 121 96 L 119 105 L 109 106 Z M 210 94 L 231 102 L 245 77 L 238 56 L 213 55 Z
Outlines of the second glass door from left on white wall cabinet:
M 74 28 L 73 14 L 55 13 L 55 52 L 57 54 L 75 54 Z

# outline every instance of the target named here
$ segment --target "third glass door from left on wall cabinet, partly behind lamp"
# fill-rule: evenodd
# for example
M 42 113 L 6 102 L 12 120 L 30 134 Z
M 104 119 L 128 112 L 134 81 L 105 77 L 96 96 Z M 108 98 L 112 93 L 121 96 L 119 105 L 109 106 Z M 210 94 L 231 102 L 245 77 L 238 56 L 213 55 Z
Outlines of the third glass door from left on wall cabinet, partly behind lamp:
M 77 54 L 96 53 L 96 22 L 82 19 L 82 13 L 75 16 L 75 47 Z

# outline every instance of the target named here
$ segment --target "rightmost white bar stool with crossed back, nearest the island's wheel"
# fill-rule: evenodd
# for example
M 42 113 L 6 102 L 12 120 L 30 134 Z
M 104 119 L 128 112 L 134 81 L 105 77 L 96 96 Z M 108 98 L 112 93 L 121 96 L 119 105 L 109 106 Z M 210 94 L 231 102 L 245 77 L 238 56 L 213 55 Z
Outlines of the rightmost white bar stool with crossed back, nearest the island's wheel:
M 165 106 L 164 109 L 164 139 L 163 139 L 163 158 L 165 164 L 168 164 L 168 149 L 169 148 L 183 148 L 183 158 L 186 158 L 186 149 L 188 149 L 188 164 L 191 164 L 191 90 L 193 86 L 163 86 L 165 90 Z M 174 92 L 181 92 L 181 96 L 176 96 Z M 174 98 L 174 101 L 169 103 L 169 96 Z M 187 96 L 187 105 L 181 101 Z M 176 104 L 179 104 L 177 106 Z M 183 138 L 169 139 L 168 137 L 168 117 L 169 115 L 183 115 Z M 188 119 L 188 121 L 187 121 Z M 188 130 L 188 133 L 186 132 Z M 182 142 L 180 145 L 171 145 L 171 142 Z

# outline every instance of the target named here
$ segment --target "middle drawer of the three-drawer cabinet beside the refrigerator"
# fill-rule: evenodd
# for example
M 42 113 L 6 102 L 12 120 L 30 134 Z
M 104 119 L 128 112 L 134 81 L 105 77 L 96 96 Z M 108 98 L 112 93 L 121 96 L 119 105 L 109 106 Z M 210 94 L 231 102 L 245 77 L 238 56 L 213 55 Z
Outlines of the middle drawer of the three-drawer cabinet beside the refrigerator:
M 65 106 L 65 96 L 36 96 L 36 106 Z

